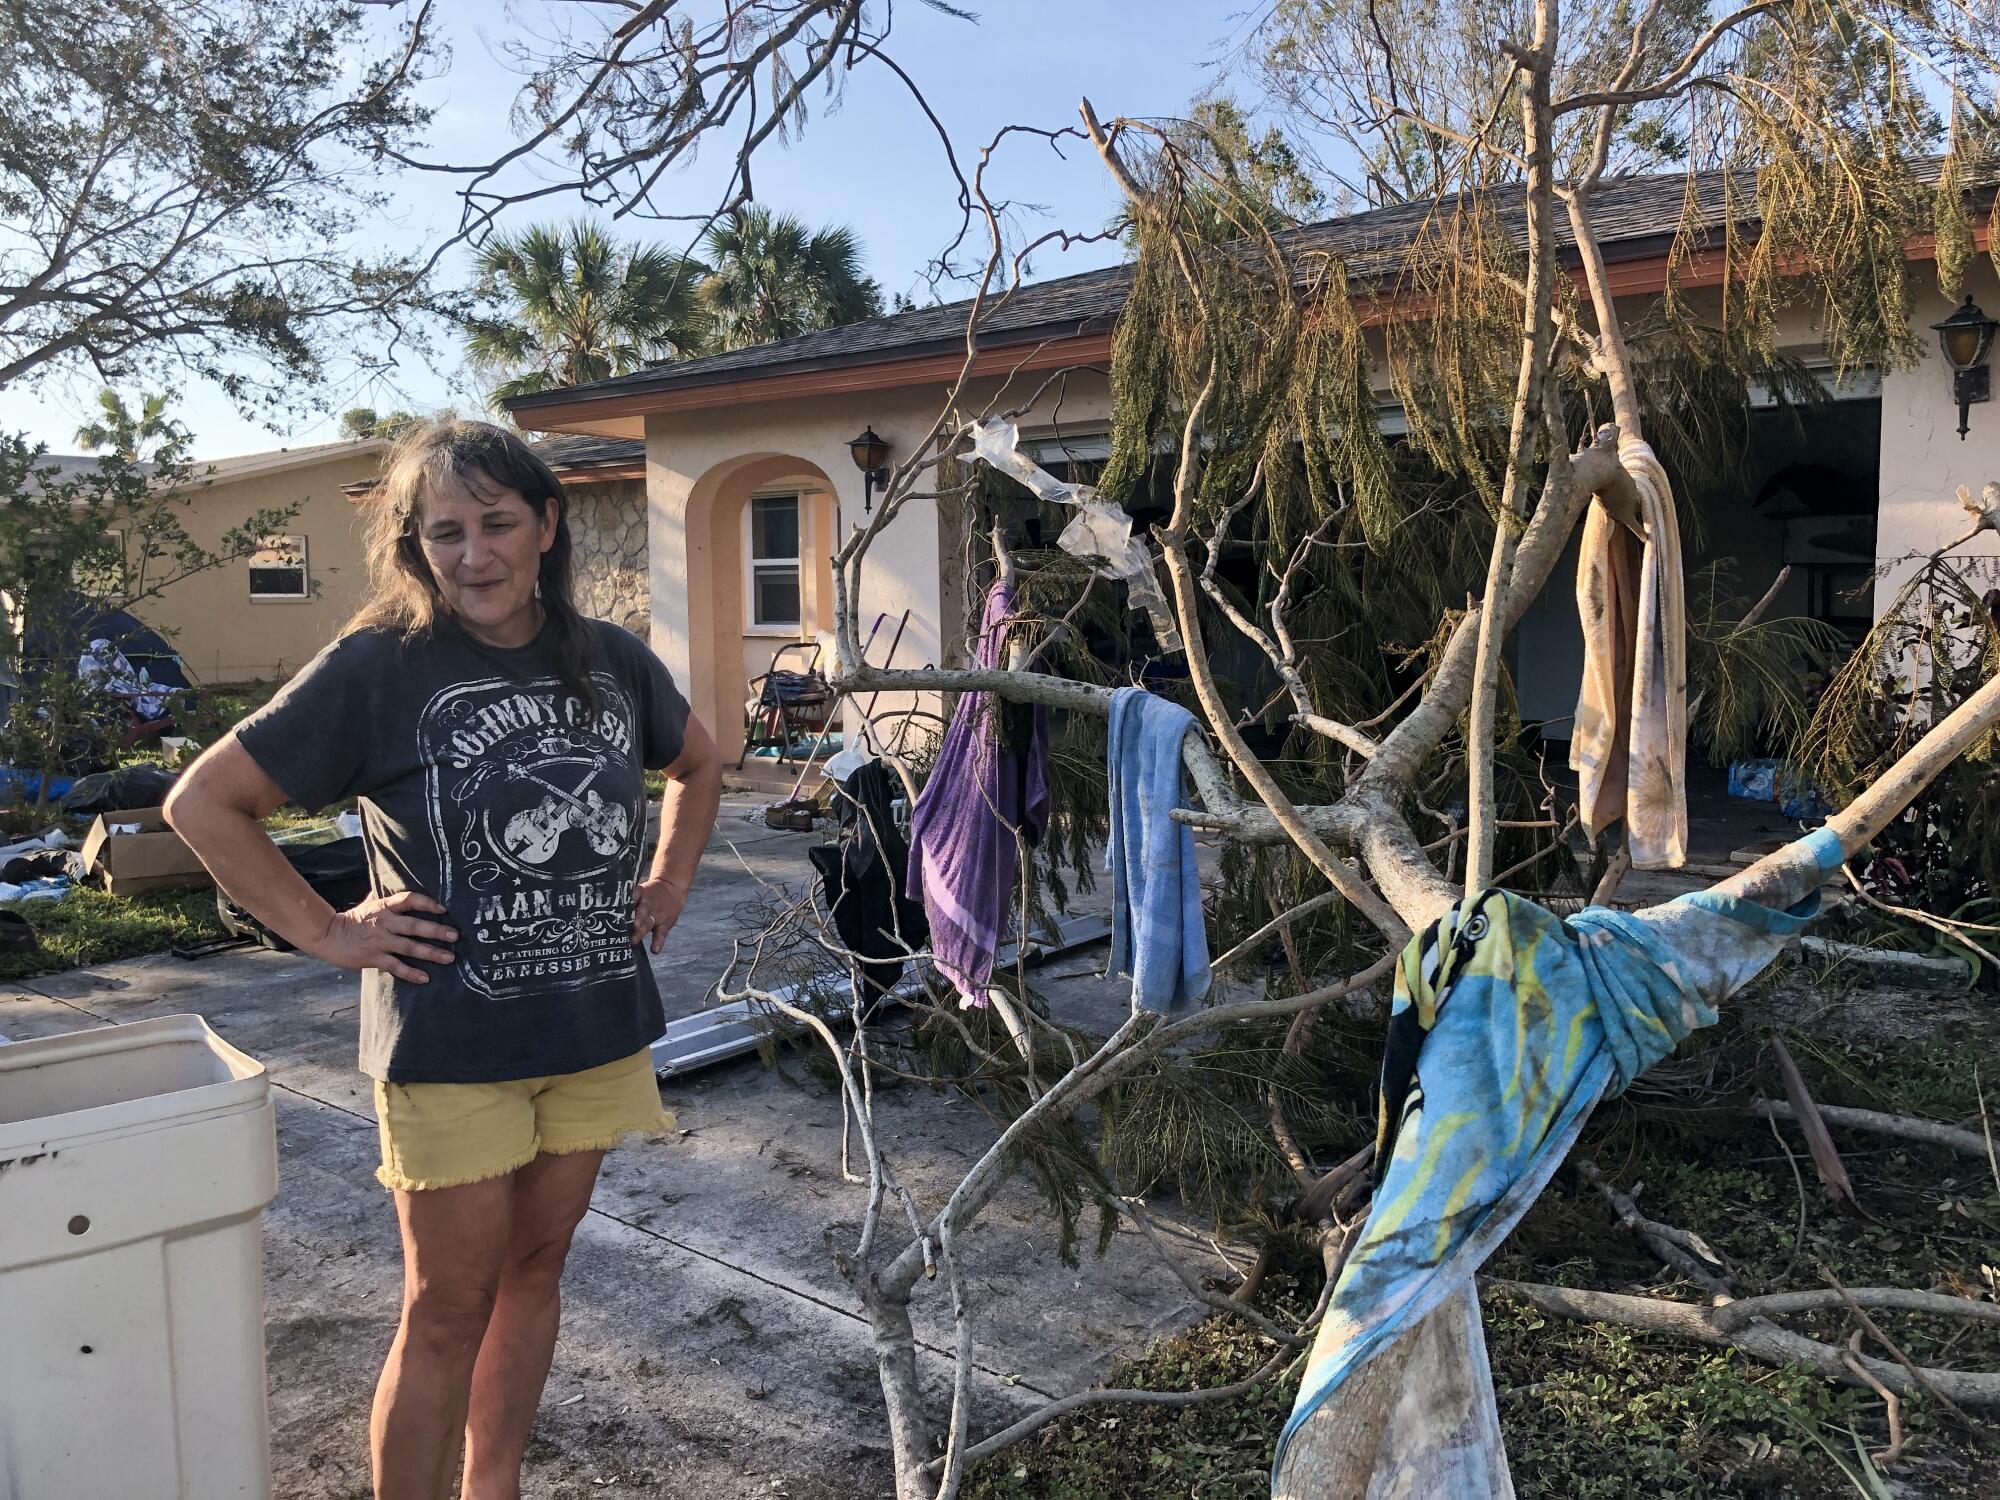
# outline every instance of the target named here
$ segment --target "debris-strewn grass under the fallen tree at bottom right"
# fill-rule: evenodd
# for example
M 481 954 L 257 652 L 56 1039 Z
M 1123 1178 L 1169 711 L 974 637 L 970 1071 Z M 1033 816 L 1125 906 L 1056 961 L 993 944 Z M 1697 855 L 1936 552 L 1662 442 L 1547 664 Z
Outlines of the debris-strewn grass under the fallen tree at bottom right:
M 1744 1120 L 1750 1070 L 1782 1014 L 1794 1056 L 1824 1104 L 1922 1114 L 1978 1130 L 1974 1068 L 1984 1062 L 1988 1108 L 2000 1104 L 2000 1010 L 1990 996 L 1854 990 L 1834 1020 L 1800 972 L 1764 986 L 1782 1006 L 1762 1024 L 1738 1018 L 1692 1046 L 1700 1088 L 1680 1098 L 1638 1094 L 1598 1110 L 1574 1156 L 1596 1160 L 1620 1186 L 1644 1184 L 1640 1210 L 1702 1234 L 1728 1262 L 1740 1294 L 1820 1288 L 1820 1268 L 1846 1286 L 1914 1286 L 2000 1300 L 2000 1184 L 1984 1162 L 1886 1136 L 1836 1132 L 1866 1216 L 1826 1204 L 1796 1132 Z M 1948 1024 L 1940 1024 L 1944 1016 Z M 1680 1066 L 1680 1064 L 1676 1064 Z M 1716 1078 L 1726 1088 L 1714 1088 Z M 1758 1088 L 1776 1092 L 1768 1078 Z M 1786 1158 L 1790 1148 L 1792 1158 Z M 1794 1176 L 1794 1162 L 1800 1176 Z M 1166 1274 L 1166 1272 L 1162 1272 Z M 1564 1168 L 1484 1274 L 1696 1300 L 1622 1228 L 1594 1188 Z M 1260 1306 L 1292 1322 L 1318 1278 L 1274 1278 Z M 1888 1444 L 1874 1392 L 1834 1386 L 1732 1350 L 1612 1326 L 1546 1318 L 1502 1294 L 1484 1296 L 1486 1342 L 1514 1486 L 1548 1500 L 1666 1496 L 1960 1496 L 2000 1494 L 2000 1448 L 1982 1446 L 1936 1402 L 1904 1400 L 1906 1448 Z M 1910 1358 L 2000 1370 L 2000 1324 L 1876 1314 Z M 1840 1314 L 1786 1326 L 1844 1342 Z M 1222 1318 L 1160 1340 L 1114 1372 L 1112 1384 L 1198 1390 L 1252 1374 L 1274 1344 Z M 1870 1350 L 1882 1356 L 1880 1348 Z M 1886 1356 L 1884 1356 L 1886 1358 Z M 1098 1406 L 1060 1420 L 972 1470 L 972 1500 L 1098 1500 L 1192 1496 L 1262 1500 L 1274 1440 L 1298 1392 L 1298 1368 L 1254 1394 L 1184 1408 Z M 1974 1408 L 1986 1438 L 1994 1412 Z

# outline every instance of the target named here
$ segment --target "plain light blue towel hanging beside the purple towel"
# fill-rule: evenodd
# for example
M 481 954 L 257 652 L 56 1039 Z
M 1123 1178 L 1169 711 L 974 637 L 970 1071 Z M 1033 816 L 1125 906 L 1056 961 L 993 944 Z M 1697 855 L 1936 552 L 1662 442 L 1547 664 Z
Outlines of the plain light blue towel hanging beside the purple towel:
M 1194 714 L 1144 688 L 1112 694 L 1112 974 L 1132 976 L 1132 1008 L 1172 1014 L 1208 994 L 1208 932 L 1180 742 Z

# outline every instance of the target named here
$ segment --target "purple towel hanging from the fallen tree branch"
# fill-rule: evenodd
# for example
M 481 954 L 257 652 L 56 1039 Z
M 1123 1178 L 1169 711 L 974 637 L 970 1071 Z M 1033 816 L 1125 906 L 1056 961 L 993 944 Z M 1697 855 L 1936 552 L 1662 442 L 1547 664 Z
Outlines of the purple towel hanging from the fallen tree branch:
M 1000 666 L 1014 612 L 1012 586 L 994 584 L 980 620 L 980 666 Z M 1032 846 L 1048 828 L 1048 710 L 1036 704 L 1026 746 L 1008 748 L 1002 714 L 990 692 L 958 700 L 910 814 L 908 894 L 924 898 L 938 972 L 976 1006 L 986 1004 L 1014 900 L 1014 834 Z

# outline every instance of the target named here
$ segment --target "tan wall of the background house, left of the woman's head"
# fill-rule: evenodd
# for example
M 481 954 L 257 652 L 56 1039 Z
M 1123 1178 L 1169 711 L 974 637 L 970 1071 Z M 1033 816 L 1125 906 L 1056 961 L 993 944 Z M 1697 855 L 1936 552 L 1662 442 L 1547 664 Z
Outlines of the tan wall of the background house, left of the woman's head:
M 306 538 L 312 592 L 304 600 L 250 600 L 248 562 L 228 562 L 172 584 L 134 606 L 160 630 L 200 682 L 286 678 L 338 634 L 368 582 L 362 512 L 342 484 L 372 478 L 374 452 L 328 458 L 276 474 L 208 484 L 182 512 L 188 534 L 218 548 L 222 534 L 270 506 L 298 504 L 288 534 Z

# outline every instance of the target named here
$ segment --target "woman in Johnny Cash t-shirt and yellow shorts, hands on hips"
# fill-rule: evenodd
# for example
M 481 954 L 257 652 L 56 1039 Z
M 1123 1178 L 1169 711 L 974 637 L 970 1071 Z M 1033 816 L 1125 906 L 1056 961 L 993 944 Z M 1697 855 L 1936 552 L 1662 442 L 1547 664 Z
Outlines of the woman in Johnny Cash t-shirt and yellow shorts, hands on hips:
M 362 970 L 360 1066 L 402 1224 L 376 1496 L 520 1492 L 558 1280 L 604 1150 L 660 1134 L 646 948 L 674 928 L 722 770 L 666 668 L 572 602 L 562 484 L 514 434 L 408 436 L 374 502 L 372 596 L 210 748 L 168 822 L 236 902 Z M 642 772 L 666 770 L 640 878 Z M 334 912 L 264 836 L 358 796 L 374 896 Z

